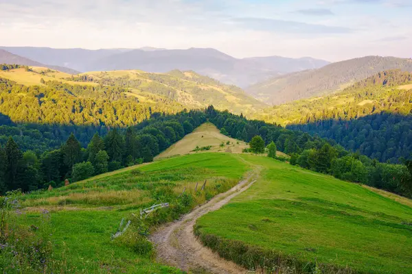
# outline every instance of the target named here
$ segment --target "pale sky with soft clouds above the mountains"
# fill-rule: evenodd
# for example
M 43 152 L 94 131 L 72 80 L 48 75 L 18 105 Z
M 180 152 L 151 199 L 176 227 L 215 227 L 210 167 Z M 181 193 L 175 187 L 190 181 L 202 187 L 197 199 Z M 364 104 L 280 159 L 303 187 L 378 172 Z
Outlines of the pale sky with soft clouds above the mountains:
M 0 0 L 0 45 L 412 57 L 412 0 Z

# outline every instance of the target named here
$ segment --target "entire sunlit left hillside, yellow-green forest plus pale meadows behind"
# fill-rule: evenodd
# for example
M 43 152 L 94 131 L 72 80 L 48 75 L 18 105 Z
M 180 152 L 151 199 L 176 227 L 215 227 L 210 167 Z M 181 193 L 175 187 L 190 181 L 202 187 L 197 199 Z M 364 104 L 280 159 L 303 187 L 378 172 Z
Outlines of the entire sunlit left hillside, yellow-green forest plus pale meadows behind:
M 239 114 L 264 107 L 240 88 L 194 72 L 75 76 L 41 67 L 2 67 L 0 112 L 19 123 L 128 126 L 153 112 L 176 113 L 209 104 Z

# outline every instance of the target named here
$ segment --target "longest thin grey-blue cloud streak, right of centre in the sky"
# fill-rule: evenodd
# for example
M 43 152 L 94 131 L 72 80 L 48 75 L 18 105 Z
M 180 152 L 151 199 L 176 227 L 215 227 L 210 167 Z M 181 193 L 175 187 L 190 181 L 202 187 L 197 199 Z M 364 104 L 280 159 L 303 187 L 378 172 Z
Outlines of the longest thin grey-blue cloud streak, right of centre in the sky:
M 232 18 L 231 21 L 247 29 L 287 34 L 348 34 L 353 32 L 352 29 L 347 27 L 317 25 L 271 18 Z

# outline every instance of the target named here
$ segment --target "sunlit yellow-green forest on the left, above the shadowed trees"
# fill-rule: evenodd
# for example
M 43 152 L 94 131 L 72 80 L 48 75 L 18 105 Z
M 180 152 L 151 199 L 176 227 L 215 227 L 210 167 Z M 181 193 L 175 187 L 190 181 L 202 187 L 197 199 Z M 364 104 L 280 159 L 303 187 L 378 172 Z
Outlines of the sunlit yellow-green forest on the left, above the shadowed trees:
M 69 85 L 57 81 L 46 86 L 23 86 L 0 78 L 0 112 L 14 123 L 129 126 L 151 113 L 183 110 L 174 101 L 139 102 L 124 88 Z

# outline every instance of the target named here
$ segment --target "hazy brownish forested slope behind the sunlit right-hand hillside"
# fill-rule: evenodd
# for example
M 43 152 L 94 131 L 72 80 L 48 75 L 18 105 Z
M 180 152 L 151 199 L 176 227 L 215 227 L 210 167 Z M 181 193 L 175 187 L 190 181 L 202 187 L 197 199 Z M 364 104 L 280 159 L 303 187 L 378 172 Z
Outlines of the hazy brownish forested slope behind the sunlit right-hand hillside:
M 380 56 L 356 58 L 321 69 L 274 77 L 247 88 L 247 92 L 262 101 L 278 105 L 341 90 L 356 81 L 391 69 L 412 71 L 412 60 Z

